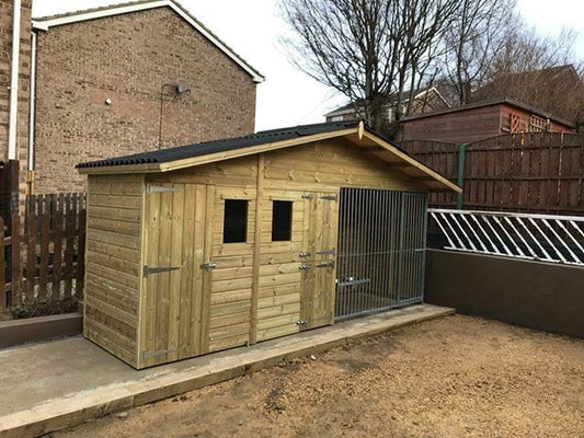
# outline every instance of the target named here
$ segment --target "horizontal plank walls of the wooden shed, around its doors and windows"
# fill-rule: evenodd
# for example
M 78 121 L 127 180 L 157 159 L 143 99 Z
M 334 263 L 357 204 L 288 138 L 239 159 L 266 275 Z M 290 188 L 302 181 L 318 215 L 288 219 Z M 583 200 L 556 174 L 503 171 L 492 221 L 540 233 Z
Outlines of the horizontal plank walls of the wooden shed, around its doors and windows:
M 85 334 L 128 364 L 142 368 L 297 333 L 300 330 L 297 323 L 302 318 L 302 291 L 306 290 L 300 253 L 307 250 L 311 226 L 308 220 L 310 203 L 305 195 L 334 195 L 340 187 L 427 191 L 427 186 L 400 169 L 359 150 L 346 139 L 337 138 L 164 173 L 90 176 L 87 241 L 87 295 L 90 298 L 85 308 Z M 146 195 L 146 187 L 150 184 L 206 189 L 207 206 L 195 211 L 213 214 L 191 219 L 184 216 L 185 224 L 180 234 L 171 232 L 162 237 L 162 228 L 146 224 L 150 223 L 150 216 L 161 215 L 158 209 L 163 208 L 169 211 L 162 211 L 161 217 L 172 216 L 173 220 L 179 220 L 171 211 L 176 207 L 176 200 L 174 207 L 164 207 L 163 203 L 159 203 L 158 209 L 149 206 L 146 199 L 151 194 Z M 248 200 L 245 242 L 224 243 L 226 199 Z M 290 241 L 272 241 L 273 200 L 293 201 Z M 183 199 L 181 211 L 186 211 L 187 205 L 188 200 Z M 151 208 L 156 211 L 150 211 Z M 332 221 L 335 228 L 336 220 L 330 217 L 335 215 L 335 208 L 310 220 Z M 190 302 L 178 312 L 170 309 L 161 320 L 159 304 L 154 306 L 154 301 L 144 297 L 148 296 L 145 290 L 153 287 L 148 281 L 158 281 L 163 303 L 175 302 L 185 285 L 183 280 L 173 283 L 172 278 L 179 278 L 173 277 L 179 276 L 176 272 L 142 279 L 142 266 L 148 260 L 162 257 L 168 265 L 181 265 L 184 276 L 184 263 L 193 263 L 184 260 L 184 254 L 190 251 L 184 241 L 191 240 L 187 233 L 193 221 L 204 221 L 208 234 L 205 247 L 197 247 L 194 253 L 208 254 L 207 261 L 217 266 L 206 274 L 209 276 L 206 278 L 210 278 L 207 281 L 195 274 L 192 288 L 199 291 L 194 295 L 199 297 L 198 301 Z M 335 241 L 336 229 L 323 228 L 319 233 L 324 233 L 324 238 L 319 238 L 322 244 Z M 152 240 L 161 244 L 157 249 L 150 247 L 149 241 Z M 168 241 L 168 247 L 163 241 Z M 182 250 L 180 241 L 183 241 Z M 195 273 L 202 270 L 199 265 L 201 261 L 197 261 L 193 266 Z M 328 287 L 324 286 L 328 281 L 332 291 L 334 268 L 329 269 L 327 278 L 319 277 L 316 281 L 320 287 Z M 168 283 L 165 290 L 160 281 Z M 330 312 L 319 309 L 321 315 L 325 315 L 319 324 L 332 323 L 334 297 L 320 302 L 331 309 Z M 193 341 L 196 344 L 193 349 L 182 345 L 179 336 L 179 353 L 175 355 L 172 353 L 176 347 L 175 328 L 159 333 L 151 324 L 152 319 L 169 327 L 178 320 L 180 333 L 186 333 L 187 325 L 196 320 L 203 338 Z M 141 360 L 137 345 L 142 344 L 149 346 L 148 351 L 165 356 L 158 360 Z

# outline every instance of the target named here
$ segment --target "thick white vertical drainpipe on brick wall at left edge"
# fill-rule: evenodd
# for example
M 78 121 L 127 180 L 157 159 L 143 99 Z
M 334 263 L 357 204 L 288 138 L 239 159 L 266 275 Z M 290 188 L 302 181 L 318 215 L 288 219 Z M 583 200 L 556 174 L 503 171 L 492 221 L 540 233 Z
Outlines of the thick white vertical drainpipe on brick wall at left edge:
M 14 0 L 12 10 L 12 59 L 10 72 L 10 106 L 8 122 L 8 159 L 16 160 L 16 120 L 19 118 L 19 67 L 21 38 L 21 0 Z

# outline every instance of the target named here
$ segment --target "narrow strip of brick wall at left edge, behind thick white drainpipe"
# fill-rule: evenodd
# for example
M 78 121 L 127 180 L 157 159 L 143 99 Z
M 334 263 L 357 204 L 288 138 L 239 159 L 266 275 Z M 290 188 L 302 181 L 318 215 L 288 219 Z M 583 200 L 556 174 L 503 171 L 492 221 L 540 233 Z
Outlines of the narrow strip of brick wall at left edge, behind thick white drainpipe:
M 24 191 L 28 142 L 28 89 L 31 80 L 31 4 L 22 0 L 19 76 L 18 158 L 21 160 L 21 188 Z M 12 57 L 12 0 L 0 0 L 0 161 L 8 160 L 10 65 Z

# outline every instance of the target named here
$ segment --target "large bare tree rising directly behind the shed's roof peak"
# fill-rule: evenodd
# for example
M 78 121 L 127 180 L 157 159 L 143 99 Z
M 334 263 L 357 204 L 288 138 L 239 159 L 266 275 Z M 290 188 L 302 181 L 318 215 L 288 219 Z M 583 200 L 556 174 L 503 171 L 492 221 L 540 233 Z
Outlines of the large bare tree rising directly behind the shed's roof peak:
M 283 42 L 296 66 L 347 96 L 374 128 L 387 131 L 387 106 L 398 108 L 399 119 L 413 90 L 435 76 L 438 43 L 457 3 L 282 0 L 291 28 Z

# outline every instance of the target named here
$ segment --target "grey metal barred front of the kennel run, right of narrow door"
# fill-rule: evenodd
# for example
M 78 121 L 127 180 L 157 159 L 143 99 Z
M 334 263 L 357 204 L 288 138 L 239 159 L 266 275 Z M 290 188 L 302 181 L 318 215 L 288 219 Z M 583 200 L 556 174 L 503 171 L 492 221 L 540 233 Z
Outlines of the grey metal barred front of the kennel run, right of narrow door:
M 335 320 L 422 302 L 427 194 L 341 188 Z

